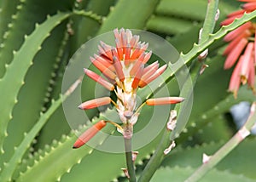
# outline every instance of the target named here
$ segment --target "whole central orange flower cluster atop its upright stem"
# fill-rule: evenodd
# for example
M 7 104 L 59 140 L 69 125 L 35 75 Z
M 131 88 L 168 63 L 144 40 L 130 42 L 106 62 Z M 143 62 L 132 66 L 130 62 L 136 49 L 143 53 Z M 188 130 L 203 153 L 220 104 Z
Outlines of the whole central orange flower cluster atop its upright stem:
M 166 70 L 167 65 L 160 67 L 158 61 L 147 65 L 152 54 L 151 51 L 147 51 L 148 43 L 139 42 L 139 36 L 133 36 L 130 30 L 115 29 L 113 33 L 115 47 L 101 42 L 98 46 L 98 54 L 90 57 L 91 63 L 102 72 L 105 78 L 88 69 L 84 69 L 84 73 L 109 91 L 113 91 L 117 100 L 114 101 L 110 97 L 97 98 L 85 101 L 79 105 L 79 108 L 88 110 L 112 103 L 119 113 L 123 126 L 110 121 L 97 122 L 79 137 L 73 148 L 84 145 L 107 122 L 119 128 L 125 138 L 131 138 L 132 126 L 137 122 L 139 111 L 143 105 L 166 105 L 183 101 L 183 98 L 180 97 L 165 97 L 148 99 L 138 106 L 137 89 L 145 87 L 149 82 L 159 77 Z

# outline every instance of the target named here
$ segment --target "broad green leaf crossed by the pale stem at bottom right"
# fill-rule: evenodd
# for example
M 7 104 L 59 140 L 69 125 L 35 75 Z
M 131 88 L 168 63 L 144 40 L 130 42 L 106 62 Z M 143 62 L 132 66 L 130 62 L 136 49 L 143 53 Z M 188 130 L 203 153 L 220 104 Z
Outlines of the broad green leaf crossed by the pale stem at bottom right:
M 192 168 L 201 166 L 202 154 L 212 155 L 218 150 L 224 142 L 209 143 L 202 145 L 195 145 L 195 147 L 187 147 L 185 149 L 177 148 L 173 150 L 170 155 L 163 161 L 162 166 L 175 168 L 176 166 L 185 168 L 188 164 Z M 228 156 L 218 163 L 216 168 L 224 171 L 229 170 L 230 173 L 243 174 L 247 178 L 256 179 L 253 170 L 254 166 L 254 151 L 255 151 L 255 137 L 246 139 L 235 150 L 231 151 Z M 241 155 L 242 154 L 242 155 Z

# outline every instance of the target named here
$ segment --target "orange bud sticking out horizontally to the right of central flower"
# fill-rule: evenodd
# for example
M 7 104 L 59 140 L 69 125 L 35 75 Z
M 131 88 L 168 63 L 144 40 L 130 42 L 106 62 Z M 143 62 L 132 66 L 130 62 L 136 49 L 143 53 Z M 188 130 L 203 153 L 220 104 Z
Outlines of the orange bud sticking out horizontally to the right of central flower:
M 172 105 L 180 103 L 184 100 L 182 97 L 162 97 L 146 100 L 147 105 Z

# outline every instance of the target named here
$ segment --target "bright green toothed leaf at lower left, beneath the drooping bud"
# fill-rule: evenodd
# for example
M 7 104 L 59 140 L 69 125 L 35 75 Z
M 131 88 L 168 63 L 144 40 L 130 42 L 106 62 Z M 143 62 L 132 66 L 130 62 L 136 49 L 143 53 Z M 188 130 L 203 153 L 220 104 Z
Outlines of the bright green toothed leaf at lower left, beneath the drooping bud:
M 113 116 L 114 112 L 115 111 L 108 111 L 102 113 L 100 117 L 95 118 L 93 122 L 109 118 Z M 87 128 L 88 127 L 83 128 L 83 130 Z M 113 131 L 113 127 L 106 126 L 104 130 L 111 132 Z M 60 141 L 55 140 L 51 145 L 46 146 L 43 151 L 40 151 L 38 156 L 30 159 L 33 160 L 32 165 L 27 166 L 24 173 L 20 173 L 17 181 L 27 181 L 34 178 L 36 178 L 37 181 L 60 180 L 63 173 L 70 171 L 75 164 L 81 162 L 84 156 L 91 155 L 91 152 L 94 150 L 89 146 L 84 146 L 79 150 L 73 150 L 72 146 L 76 139 L 77 135 L 72 132 L 64 136 Z M 53 161 L 55 165 L 51 165 Z

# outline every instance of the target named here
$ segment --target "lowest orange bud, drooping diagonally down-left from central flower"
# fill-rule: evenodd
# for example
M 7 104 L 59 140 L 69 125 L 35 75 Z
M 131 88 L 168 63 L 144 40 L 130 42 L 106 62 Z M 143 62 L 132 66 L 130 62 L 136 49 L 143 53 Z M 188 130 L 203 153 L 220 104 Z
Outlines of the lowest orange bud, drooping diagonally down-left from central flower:
M 79 136 L 79 139 L 76 140 L 76 142 L 73 145 L 73 149 L 77 149 L 80 146 L 86 144 L 92 137 L 94 137 L 105 126 L 106 126 L 106 122 L 102 120 L 100 122 L 97 122 L 91 128 L 87 129 L 84 132 L 84 134 L 81 134 Z

